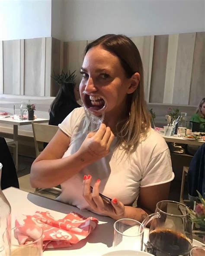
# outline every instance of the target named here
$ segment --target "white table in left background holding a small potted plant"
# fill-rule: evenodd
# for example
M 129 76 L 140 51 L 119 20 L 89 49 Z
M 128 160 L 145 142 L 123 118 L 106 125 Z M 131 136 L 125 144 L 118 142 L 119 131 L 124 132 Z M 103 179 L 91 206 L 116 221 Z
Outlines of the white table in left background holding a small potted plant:
M 13 125 L 13 141 L 17 143 L 17 156 L 18 156 L 18 126 L 28 125 L 32 123 L 46 123 L 49 119 L 36 118 L 35 120 L 14 120 L 12 117 L 0 116 L 0 123 Z M 16 170 L 18 171 L 18 157 L 16 158 Z

